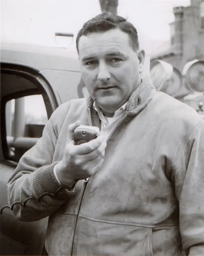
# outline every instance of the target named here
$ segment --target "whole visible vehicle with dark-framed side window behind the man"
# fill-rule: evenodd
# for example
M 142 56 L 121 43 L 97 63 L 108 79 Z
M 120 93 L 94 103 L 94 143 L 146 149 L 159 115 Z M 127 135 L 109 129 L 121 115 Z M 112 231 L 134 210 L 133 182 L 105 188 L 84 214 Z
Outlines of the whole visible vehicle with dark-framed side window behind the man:
M 84 88 L 73 49 L 1 43 L 0 209 L 8 205 L 6 184 L 20 157 L 42 136 L 52 112 L 84 97 Z M 46 229 L 47 218 L 27 223 L 4 208 L 0 254 L 41 255 Z

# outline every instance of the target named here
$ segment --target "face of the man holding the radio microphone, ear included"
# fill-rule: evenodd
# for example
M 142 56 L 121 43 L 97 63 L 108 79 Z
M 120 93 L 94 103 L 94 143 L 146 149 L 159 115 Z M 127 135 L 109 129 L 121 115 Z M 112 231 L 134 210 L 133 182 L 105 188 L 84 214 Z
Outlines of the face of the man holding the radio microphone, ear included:
M 141 82 L 144 51 L 135 53 L 119 29 L 82 36 L 78 48 L 88 92 L 102 110 L 114 113 Z

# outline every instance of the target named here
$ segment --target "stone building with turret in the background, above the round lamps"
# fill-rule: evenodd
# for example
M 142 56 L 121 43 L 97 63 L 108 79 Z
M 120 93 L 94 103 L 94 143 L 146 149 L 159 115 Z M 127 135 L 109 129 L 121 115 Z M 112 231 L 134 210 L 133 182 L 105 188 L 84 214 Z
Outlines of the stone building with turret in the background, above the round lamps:
M 151 60 L 164 60 L 182 72 L 187 62 L 204 60 L 204 1 L 191 0 L 190 6 L 174 7 L 173 11 L 171 40 L 160 45 Z

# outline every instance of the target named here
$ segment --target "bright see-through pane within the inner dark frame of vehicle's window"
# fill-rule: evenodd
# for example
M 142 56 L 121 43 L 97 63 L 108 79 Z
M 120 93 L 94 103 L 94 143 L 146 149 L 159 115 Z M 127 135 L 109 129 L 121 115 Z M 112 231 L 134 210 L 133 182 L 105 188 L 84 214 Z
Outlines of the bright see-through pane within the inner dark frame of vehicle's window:
M 25 138 L 29 145 L 31 143 L 29 138 L 42 136 L 44 125 L 48 120 L 47 111 L 42 95 L 29 95 L 9 100 L 6 103 L 5 111 L 9 157 L 18 159 L 27 150 L 27 147 L 23 145 L 26 143 Z M 20 138 L 24 138 L 24 140 L 20 140 Z M 13 145 L 16 139 L 19 140 L 19 144 L 22 143 L 22 148 Z

